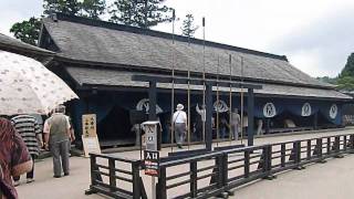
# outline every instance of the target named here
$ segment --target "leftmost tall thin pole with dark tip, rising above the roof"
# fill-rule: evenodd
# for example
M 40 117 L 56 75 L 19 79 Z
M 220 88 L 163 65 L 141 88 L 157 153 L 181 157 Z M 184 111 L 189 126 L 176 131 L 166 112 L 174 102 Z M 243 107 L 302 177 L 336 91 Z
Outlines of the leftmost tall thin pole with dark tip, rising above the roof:
M 175 19 L 176 13 L 173 11 L 173 44 L 175 44 Z M 175 134 L 175 124 L 174 124 L 174 107 L 175 107 L 175 53 L 171 51 L 173 55 L 173 81 L 171 81 L 171 94 L 170 94 L 170 151 L 174 151 L 174 134 Z

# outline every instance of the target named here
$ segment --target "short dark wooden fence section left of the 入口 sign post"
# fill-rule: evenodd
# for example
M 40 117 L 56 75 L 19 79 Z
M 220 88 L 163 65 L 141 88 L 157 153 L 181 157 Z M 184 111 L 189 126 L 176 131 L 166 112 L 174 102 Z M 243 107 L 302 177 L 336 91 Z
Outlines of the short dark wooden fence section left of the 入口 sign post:
M 90 154 L 91 185 L 86 193 L 113 198 L 147 198 L 139 174 L 140 160 Z

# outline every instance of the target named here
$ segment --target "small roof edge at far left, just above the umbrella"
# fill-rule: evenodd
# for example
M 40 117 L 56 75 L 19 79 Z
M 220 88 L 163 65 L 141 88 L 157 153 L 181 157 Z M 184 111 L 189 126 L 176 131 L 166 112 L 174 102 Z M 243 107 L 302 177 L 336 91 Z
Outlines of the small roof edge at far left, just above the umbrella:
M 41 49 L 28 43 L 21 42 L 17 39 L 0 33 L 0 50 L 9 51 L 22 55 L 35 54 L 42 56 L 54 55 L 54 52 Z

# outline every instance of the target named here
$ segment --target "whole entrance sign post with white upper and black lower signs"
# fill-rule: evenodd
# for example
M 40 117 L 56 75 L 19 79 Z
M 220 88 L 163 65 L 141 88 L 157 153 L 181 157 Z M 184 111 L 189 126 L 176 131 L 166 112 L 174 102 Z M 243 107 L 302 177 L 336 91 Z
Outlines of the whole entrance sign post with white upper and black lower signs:
M 146 149 L 144 150 L 145 175 L 152 176 L 152 195 L 156 199 L 156 177 L 159 175 L 159 122 L 148 121 L 143 123 L 145 130 Z

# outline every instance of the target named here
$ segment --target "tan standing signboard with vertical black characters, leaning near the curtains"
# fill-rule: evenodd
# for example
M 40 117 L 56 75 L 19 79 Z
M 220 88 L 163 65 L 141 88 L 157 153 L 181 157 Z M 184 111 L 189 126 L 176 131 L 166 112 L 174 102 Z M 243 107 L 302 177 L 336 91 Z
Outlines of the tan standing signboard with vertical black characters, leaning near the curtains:
M 82 144 L 85 157 L 88 157 L 90 153 L 101 154 L 96 129 L 96 114 L 82 115 Z

